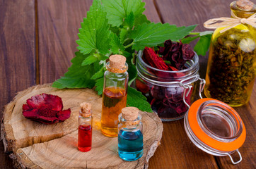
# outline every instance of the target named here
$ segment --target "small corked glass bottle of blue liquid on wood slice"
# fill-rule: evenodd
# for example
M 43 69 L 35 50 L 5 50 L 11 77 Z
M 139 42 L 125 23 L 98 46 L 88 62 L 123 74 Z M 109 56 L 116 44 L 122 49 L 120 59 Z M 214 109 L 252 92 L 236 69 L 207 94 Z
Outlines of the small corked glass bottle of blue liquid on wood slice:
M 118 124 L 118 154 L 124 161 L 136 161 L 143 155 L 142 123 L 138 108 L 122 108 Z

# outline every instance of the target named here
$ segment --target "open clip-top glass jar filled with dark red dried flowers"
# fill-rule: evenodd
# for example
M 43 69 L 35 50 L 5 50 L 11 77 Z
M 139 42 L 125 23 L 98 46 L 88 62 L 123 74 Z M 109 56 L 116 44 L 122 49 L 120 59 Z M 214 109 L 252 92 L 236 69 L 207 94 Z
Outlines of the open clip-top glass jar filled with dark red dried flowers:
M 188 44 L 165 42 L 157 51 L 146 47 L 136 58 L 136 89 L 146 96 L 153 111 L 162 121 L 184 118 L 188 104 L 194 101 L 195 84 L 199 78 L 199 58 Z

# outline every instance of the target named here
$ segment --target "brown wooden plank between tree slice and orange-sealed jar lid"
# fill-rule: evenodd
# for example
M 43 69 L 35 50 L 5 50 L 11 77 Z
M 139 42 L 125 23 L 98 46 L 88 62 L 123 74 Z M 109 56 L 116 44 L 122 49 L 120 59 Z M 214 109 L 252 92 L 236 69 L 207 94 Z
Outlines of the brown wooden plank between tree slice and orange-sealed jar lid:
M 194 146 L 184 129 L 183 119 L 163 123 L 163 137 L 149 161 L 151 168 L 218 168 L 214 156 Z

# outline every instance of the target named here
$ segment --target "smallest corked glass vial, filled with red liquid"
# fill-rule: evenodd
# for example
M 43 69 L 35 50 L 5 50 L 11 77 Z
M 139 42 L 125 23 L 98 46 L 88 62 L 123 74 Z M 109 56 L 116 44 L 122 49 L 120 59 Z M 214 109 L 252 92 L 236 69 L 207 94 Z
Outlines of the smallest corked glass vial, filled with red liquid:
M 91 104 L 83 102 L 78 116 L 78 150 L 90 151 L 92 144 L 93 117 Z

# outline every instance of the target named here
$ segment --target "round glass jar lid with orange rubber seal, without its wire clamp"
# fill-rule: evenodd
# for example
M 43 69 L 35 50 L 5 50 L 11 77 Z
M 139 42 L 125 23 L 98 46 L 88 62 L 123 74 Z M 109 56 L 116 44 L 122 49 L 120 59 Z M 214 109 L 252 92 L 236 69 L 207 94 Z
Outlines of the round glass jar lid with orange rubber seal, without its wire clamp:
M 235 151 L 245 142 L 245 125 L 238 113 L 216 99 L 199 99 L 192 104 L 188 123 L 194 135 L 219 151 Z

